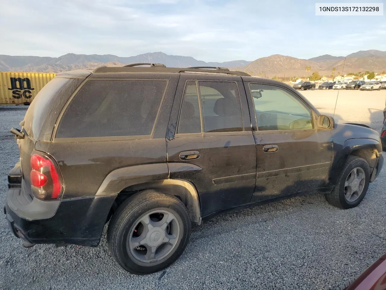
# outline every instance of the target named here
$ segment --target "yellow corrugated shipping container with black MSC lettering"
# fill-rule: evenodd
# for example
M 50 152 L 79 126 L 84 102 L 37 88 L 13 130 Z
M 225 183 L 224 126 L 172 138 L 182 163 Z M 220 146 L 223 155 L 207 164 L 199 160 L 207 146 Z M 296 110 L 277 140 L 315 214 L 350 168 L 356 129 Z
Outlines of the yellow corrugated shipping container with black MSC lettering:
M 0 72 L 0 105 L 29 104 L 55 73 Z

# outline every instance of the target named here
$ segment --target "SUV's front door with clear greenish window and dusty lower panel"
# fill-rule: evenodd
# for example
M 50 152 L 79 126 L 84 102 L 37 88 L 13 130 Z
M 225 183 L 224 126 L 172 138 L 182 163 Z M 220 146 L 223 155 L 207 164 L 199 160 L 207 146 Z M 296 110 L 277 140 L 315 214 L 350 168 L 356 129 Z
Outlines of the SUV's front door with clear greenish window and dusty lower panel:
M 245 84 L 255 115 L 257 180 L 252 201 L 321 188 L 333 158 L 330 131 L 316 128 L 301 97 L 274 84 Z

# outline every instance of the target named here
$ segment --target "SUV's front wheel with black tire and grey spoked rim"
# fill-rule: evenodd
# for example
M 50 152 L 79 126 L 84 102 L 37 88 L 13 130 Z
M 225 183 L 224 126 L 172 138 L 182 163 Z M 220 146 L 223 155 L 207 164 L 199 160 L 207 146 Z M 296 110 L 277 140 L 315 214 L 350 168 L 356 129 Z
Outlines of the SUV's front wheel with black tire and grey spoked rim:
M 326 200 L 339 208 L 353 208 L 366 195 L 370 182 L 370 168 L 366 160 L 349 155 L 335 188 L 326 193 Z

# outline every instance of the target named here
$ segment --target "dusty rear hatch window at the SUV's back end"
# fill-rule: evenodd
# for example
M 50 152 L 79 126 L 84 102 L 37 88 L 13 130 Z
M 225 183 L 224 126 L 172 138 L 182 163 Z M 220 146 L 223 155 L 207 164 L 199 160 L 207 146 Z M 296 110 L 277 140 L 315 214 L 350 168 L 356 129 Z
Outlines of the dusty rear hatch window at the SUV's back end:
M 39 91 L 24 117 L 23 127 L 30 138 L 51 140 L 52 131 L 64 104 L 84 80 L 55 77 Z

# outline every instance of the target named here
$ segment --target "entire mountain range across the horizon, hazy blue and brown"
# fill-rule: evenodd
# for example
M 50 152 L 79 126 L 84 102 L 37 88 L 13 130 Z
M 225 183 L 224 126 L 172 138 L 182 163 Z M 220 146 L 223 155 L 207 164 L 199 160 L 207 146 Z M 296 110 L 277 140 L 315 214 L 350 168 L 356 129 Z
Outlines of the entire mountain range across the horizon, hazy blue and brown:
M 299 59 L 284 55 L 271 55 L 255 61 L 235 60 L 227 62 L 205 62 L 191 56 L 167 55 L 162 52 L 137 56 L 76 55 L 68 53 L 57 58 L 41 56 L 0 55 L 0 71 L 4 72 L 62 72 L 75 69 L 94 69 L 100 66 L 123 66 L 129 63 L 164 63 L 167 67 L 228 67 L 262 77 L 307 76 L 312 72 L 320 75 L 335 75 L 347 72 L 383 72 L 386 70 L 386 51 L 357 51 L 347 56 L 321 55 L 310 59 Z M 344 68 L 343 68 L 344 66 Z M 311 67 L 306 70 L 306 67 Z

